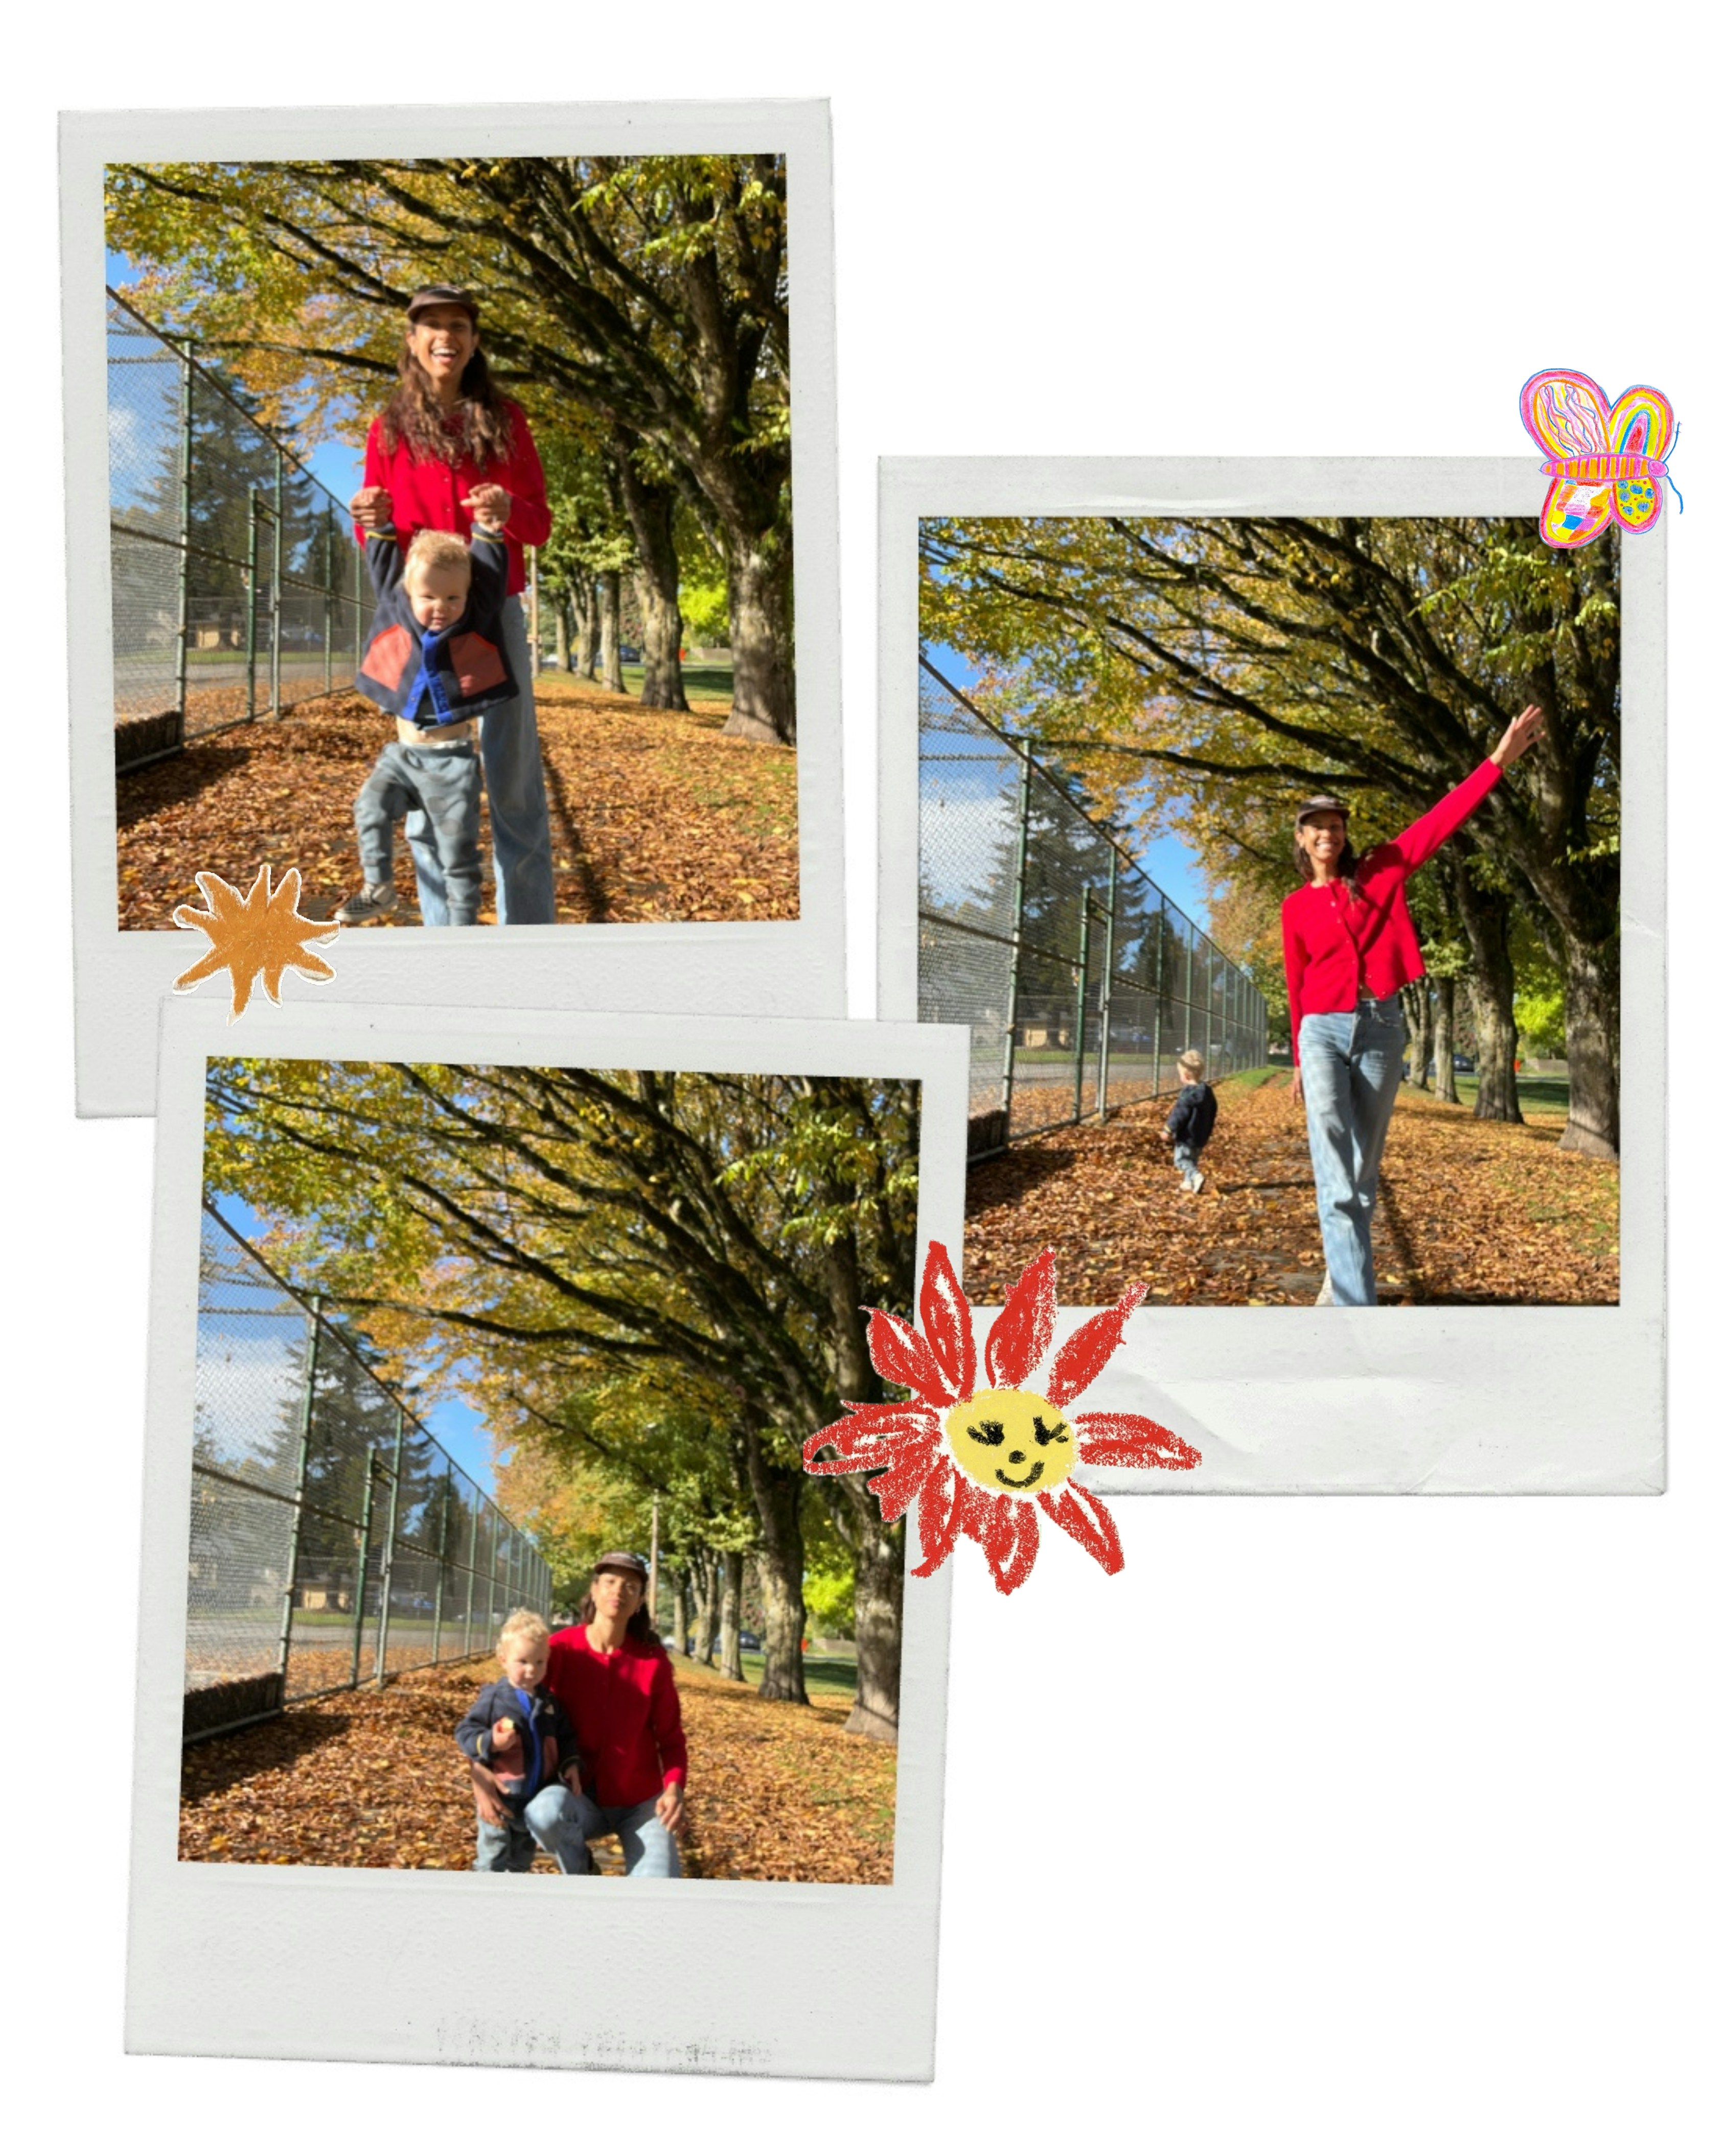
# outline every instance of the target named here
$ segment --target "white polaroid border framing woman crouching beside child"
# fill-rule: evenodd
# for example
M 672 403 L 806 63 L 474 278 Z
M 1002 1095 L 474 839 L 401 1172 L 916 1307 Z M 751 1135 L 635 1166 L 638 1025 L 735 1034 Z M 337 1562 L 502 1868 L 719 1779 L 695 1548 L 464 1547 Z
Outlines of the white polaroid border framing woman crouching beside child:
M 259 2059 L 934 2074 L 951 1572 L 906 1580 L 891 1887 L 179 1863 L 205 1061 L 802 1072 L 923 1087 L 921 1250 L 964 1210 L 960 1026 L 164 1007 L 155 1125 L 127 2048 Z M 914 1544 L 912 1544 L 914 1548 Z M 914 1561 L 914 1557 L 912 1557 Z M 696 1787 L 699 1798 L 699 1787 Z M 679 1971 L 666 1988 L 664 1971 Z M 500 1973 L 507 1973 L 502 1979 Z

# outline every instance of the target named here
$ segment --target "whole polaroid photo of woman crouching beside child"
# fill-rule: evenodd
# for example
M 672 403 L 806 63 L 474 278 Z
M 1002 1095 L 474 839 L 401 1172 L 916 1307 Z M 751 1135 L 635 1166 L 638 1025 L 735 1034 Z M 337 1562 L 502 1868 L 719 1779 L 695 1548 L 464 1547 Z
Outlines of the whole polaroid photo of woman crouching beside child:
M 164 1007 L 132 2050 L 932 2076 L 949 1574 L 802 1442 L 964 1072 Z

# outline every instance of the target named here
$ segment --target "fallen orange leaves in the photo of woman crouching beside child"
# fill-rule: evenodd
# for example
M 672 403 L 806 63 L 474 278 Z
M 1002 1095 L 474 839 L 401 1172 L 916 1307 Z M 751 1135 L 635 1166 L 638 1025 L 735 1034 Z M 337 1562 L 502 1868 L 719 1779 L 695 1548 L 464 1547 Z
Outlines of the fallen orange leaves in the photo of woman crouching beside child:
M 891 1884 L 897 1751 L 845 1736 L 843 1701 L 763 1701 L 677 1656 L 690 1751 L 684 1869 L 692 1878 Z M 474 1850 L 455 1725 L 496 1662 L 416 1669 L 190 1744 L 185 1863 L 466 1871 Z M 621 1871 L 612 1843 L 595 1846 Z M 556 1867 L 535 1854 L 535 1871 Z

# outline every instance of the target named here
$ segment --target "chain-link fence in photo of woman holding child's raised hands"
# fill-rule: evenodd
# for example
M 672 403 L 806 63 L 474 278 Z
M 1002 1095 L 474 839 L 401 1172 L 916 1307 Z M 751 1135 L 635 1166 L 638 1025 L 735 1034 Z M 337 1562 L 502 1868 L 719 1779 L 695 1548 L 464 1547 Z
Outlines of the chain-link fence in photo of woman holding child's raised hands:
M 369 619 L 343 505 L 108 293 L 114 761 L 351 688 Z

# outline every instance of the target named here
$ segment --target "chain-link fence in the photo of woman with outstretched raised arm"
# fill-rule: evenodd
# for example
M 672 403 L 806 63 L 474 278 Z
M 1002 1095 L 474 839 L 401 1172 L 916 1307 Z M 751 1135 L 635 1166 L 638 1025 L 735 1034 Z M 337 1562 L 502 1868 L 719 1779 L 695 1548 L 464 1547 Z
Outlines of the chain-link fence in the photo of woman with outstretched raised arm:
M 927 660 L 919 1015 L 970 1026 L 970 1151 L 1264 1063 L 1264 996 Z

